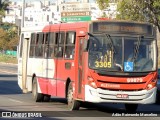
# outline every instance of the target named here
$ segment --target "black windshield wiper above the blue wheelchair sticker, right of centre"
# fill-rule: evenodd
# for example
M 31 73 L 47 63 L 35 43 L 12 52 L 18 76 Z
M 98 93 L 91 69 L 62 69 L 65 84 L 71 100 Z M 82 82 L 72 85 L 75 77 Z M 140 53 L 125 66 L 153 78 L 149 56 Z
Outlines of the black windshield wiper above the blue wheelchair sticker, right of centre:
M 144 36 L 139 36 L 138 37 L 138 41 L 137 41 L 137 45 L 134 49 L 134 56 L 133 56 L 133 62 L 137 59 L 137 56 L 139 54 L 139 46 L 140 46 L 140 43 L 141 43 L 141 40 Z

